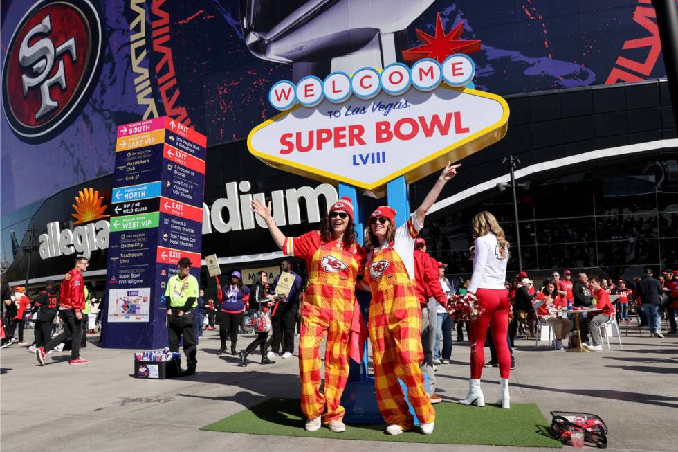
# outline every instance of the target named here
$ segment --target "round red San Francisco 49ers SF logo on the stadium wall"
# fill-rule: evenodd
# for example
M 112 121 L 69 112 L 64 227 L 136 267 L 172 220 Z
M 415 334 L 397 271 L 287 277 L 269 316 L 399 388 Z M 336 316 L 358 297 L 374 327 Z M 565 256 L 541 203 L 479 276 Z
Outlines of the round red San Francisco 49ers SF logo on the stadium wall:
M 101 62 L 101 34 L 89 0 L 37 1 L 21 18 L 2 72 L 5 116 L 17 136 L 46 141 L 80 111 Z

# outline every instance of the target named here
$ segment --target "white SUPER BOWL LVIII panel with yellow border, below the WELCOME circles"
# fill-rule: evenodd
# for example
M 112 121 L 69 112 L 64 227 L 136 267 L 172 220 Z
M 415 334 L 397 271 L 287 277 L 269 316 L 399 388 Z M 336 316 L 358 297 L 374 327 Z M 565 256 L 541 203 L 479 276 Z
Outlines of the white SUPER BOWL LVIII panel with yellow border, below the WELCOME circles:
M 364 78 L 365 72 L 356 74 Z M 314 107 L 300 99 L 255 127 L 248 149 L 287 172 L 381 197 L 393 179 L 404 175 L 412 183 L 506 134 L 508 105 L 495 94 L 450 87 L 446 80 L 430 91 L 416 84 L 404 93 L 389 91 L 382 87 L 367 99 L 354 92 L 342 104 L 326 95 Z

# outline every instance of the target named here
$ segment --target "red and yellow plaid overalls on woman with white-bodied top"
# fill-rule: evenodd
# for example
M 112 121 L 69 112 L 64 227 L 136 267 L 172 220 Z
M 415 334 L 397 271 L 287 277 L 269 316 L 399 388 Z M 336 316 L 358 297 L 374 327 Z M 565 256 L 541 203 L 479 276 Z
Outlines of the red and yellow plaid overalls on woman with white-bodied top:
M 423 387 L 419 363 L 421 312 L 416 285 L 392 248 L 375 249 L 365 266 L 365 281 L 372 291 L 369 305 L 369 339 L 374 359 L 374 386 L 379 411 L 387 424 L 403 430 L 414 427 L 398 379 L 407 386 L 407 398 L 422 424 L 435 419 L 435 410 Z

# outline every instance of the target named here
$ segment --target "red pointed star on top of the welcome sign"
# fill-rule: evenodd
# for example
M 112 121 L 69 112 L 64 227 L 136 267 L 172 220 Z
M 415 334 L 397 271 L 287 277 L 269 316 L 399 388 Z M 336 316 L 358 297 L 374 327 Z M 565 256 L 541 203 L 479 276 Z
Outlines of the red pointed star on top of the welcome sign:
M 457 25 L 450 33 L 445 34 L 443 30 L 443 21 L 438 13 L 436 18 L 436 34 L 431 36 L 419 28 L 416 28 L 416 35 L 423 44 L 403 51 L 403 57 L 407 61 L 421 60 L 422 58 L 433 58 L 439 63 L 445 61 L 447 57 L 455 53 L 474 53 L 480 50 L 479 39 L 459 39 L 461 33 L 464 33 L 464 22 Z

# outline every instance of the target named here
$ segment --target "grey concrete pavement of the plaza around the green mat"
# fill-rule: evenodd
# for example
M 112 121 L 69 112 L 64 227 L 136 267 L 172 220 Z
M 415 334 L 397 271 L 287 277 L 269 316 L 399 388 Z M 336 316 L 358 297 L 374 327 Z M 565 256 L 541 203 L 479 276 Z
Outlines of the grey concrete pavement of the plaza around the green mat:
M 32 340 L 29 331 L 28 341 Z M 239 348 L 253 336 L 241 337 Z M 200 431 L 223 417 L 269 397 L 298 397 L 297 359 L 247 368 L 235 356 L 217 357 L 217 332 L 205 332 L 198 372 L 183 379 L 131 377 L 133 350 L 107 350 L 94 341 L 82 350 L 91 363 L 68 365 L 68 352 L 48 355 L 40 368 L 26 347 L 0 350 L 0 446 L 3 451 L 151 450 L 228 448 L 235 451 L 411 450 L 412 444 L 273 437 Z M 511 401 L 534 402 L 550 422 L 551 410 L 600 415 L 610 429 L 612 451 L 672 451 L 678 413 L 678 336 L 623 338 L 623 349 L 578 354 L 555 352 L 546 343 L 517 341 Z M 486 349 L 486 356 L 489 353 Z M 452 364 L 440 365 L 438 393 L 450 403 L 466 396 L 468 343 L 455 341 Z M 185 361 L 185 360 L 184 360 Z M 484 370 L 483 390 L 493 401 L 499 372 Z M 482 409 L 482 408 L 479 408 Z M 349 427 L 350 428 L 350 427 Z M 416 447 L 416 446 L 415 446 Z M 430 451 L 518 451 L 491 446 L 427 446 Z M 524 449 L 537 452 L 547 449 Z M 549 449 L 550 450 L 550 449 Z

